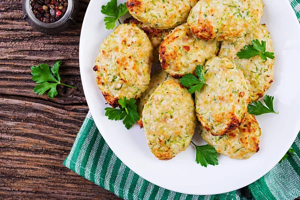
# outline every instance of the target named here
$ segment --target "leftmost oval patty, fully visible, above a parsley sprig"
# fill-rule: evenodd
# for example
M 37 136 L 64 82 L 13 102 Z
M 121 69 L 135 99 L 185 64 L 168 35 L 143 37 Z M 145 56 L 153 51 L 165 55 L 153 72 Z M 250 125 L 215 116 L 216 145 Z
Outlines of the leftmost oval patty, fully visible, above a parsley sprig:
M 152 44 L 135 24 L 120 24 L 107 36 L 93 70 L 105 100 L 118 106 L 123 96 L 137 98 L 150 81 Z

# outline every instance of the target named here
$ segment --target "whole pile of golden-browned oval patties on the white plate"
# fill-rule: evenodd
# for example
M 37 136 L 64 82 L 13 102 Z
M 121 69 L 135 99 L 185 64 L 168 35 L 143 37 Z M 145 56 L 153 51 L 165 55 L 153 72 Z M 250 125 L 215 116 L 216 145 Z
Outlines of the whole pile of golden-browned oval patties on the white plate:
M 103 41 L 94 70 L 106 101 L 137 99 L 151 152 L 171 159 L 195 132 L 217 152 L 245 159 L 259 150 L 260 128 L 247 105 L 273 80 L 273 60 L 239 59 L 251 40 L 272 41 L 260 25 L 261 0 L 127 0 L 132 17 Z M 159 57 L 158 57 L 159 55 Z M 150 76 L 152 57 L 161 68 Z M 158 59 L 159 58 L 159 59 Z M 204 66 L 194 98 L 178 79 Z M 153 70 L 152 70 L 153 71 Z

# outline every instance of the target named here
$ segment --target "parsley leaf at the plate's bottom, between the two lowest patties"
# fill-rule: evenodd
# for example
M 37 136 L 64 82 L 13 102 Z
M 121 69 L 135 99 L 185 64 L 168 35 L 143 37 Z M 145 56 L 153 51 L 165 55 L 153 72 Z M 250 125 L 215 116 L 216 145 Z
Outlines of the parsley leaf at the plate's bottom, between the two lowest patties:
M 201 166 L 207 167 L 207 164 L 217 165 L 217 152 L 214 147 L 209 144 L 197 146 L 194 142 L 191 143 L 196 147 L 196 162 Z

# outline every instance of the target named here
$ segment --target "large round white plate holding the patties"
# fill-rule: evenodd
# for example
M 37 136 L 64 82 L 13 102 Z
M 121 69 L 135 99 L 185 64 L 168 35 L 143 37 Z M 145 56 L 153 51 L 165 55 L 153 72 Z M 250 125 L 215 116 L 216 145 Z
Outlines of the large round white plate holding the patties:
M 122 0 L 123 1 L 123 0 Z M 124 1 L 123 1 L 124 2 Z M 300 26 L 287 0 L 263 0 L 262 23 L 271 33 L 276 61 L 274 82 L 267 94 L 275 96 L 279 114 L 257 116 L 261 127 L 260 150 L 247 160 L 219 155 L 219 164 L 202 167 L 195 162 L 195 149 L 168 161 L 150 152 L 143 129 L 127 130 L 121 121 L 104 115 L 105 100 L 92 70 L 106 30 L 100 7 L 107 0 L 91 0 L 85 13 L 79 48 L 82 85 L 94 121 L 111 150 L 135 173 L 158 186 L 188 194 L 216 194 L 241 188 L 269 171 L 284 155 L 300 130 Z M 118 2 L 120 3 L 120 1 Z M 193 140 L 204 143 L 200 136 Z

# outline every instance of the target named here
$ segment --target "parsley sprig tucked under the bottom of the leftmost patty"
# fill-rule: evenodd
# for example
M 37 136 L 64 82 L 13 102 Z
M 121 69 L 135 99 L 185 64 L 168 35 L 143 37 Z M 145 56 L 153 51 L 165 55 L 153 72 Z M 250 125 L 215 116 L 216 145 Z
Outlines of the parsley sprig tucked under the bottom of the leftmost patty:
M 123 124 L 127 129 L 131 128 L 132 125 L 139 119 L 139 115 L 136 111 L 136 100 L 130 98 L 127 100 L 126 96 L 120 98 L 118 103 L 120 104 L 118 108 L 105 107 L 105 116 L 108 116 L 110 120 L 122 120 Z

